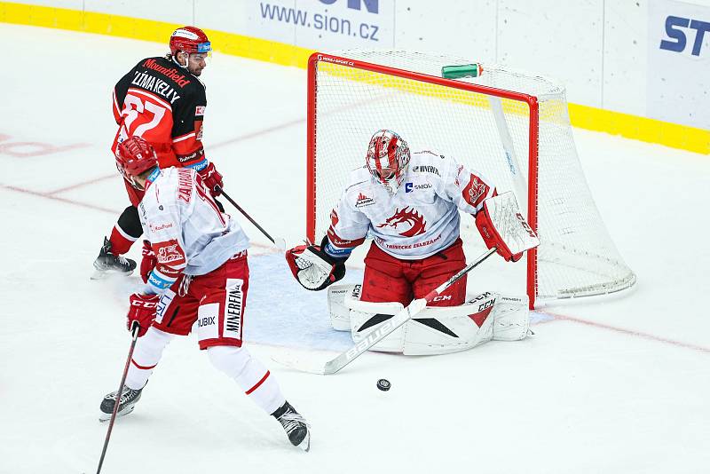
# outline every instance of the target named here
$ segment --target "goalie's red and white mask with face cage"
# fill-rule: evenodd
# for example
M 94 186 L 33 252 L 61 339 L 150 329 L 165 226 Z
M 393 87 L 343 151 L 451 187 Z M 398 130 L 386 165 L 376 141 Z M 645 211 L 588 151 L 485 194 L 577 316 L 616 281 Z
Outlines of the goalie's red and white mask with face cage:
M 392 130 L 377 130 L 367 147 L 367 170 L 394 195 L 402 185 L 409 165 L 409 146 Z

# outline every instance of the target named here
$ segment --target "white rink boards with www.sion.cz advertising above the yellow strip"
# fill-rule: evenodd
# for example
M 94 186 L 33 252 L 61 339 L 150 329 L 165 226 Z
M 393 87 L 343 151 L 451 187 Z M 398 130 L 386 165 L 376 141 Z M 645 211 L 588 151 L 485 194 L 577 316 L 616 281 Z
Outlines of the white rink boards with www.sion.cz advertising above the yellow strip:
M 175 23 L 318 51 L 440 51 L 548 75 L 573 104 L 710 128 L 710 32 L 698 56 L 659 48 L 669 16 L 710 22 L 710 0 L 95 0 L 22 2 Z M 698 27 L 699 28 L 699 27 Z M 677 31 L 674 35 L 677 34 Z M 660 77 L 666 71 L 667 77 Z M 682 78 L 677 79 L 677 78 Z M 685 78 L 691 78 L 686 81 Z

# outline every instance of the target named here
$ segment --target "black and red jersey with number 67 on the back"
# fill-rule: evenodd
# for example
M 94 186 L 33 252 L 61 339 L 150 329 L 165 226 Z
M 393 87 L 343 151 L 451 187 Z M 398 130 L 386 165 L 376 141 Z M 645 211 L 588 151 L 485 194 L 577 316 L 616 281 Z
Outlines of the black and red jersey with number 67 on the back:
M 154 146 L 161 168 L 194 167 L 207 162 L 202 147 L 205 86 L 171 59 L 146 58 L 114 87 L 118 132 L 111 151 L 138 135 Z

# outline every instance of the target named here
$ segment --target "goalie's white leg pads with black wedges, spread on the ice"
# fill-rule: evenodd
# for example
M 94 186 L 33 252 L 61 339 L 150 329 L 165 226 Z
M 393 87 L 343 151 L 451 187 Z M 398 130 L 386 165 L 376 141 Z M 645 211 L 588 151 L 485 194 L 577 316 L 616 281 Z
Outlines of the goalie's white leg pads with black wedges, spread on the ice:
M 328 312 L 333 328 L 351 331 L 359 343 L 403 309 L 400 303 L 359 300 L 360 285 L 328 288 Z M 429 355 L 461 352 L 491 340 L 517 341 L 532 334 L 527 296 L 485 292 L 459 306 L 429 306 L 397 328 L 371 350 Z

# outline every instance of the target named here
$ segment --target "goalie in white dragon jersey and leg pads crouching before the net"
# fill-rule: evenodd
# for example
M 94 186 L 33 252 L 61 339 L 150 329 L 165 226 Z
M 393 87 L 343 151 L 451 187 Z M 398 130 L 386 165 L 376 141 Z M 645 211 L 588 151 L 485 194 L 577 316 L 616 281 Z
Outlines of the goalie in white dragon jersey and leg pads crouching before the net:
M 496 195 L 495 186 L 488 179 L 467 170 L 454 158 L 431 151 L 411 153 L 396 132 L 378 130 L 367 147 L 365 166 L 351 172 L 331 213 L 327 235 L 320 245 L 288 250 L 287 261 L 304 288 L 327 288 L 343 278 L 344 262 L 352 249 L 367 237 L 373 238 L 365 258 L 359 297 L 352 296 L 353 288 L 349 287 L 337 288 L 339 293 L 334 288 L 329 298 L 331 309 L 338 308 L 335 328 L 351 329 L 357 342 L 398 309 L 427 295 L 466 266 L 459 235 L 460 210 L 476 218 L 478 231 L 489 249 L 495 247 L 507 261 L 522 257 L 520 253 L 513 254 L 502 241 L 485 209 L 485 201 Z M 346 298 L 347 295 L 350 296 Z M 486 320 L 496 296 L 482 297 L 487 305 L 480 311 L 480 301 L 475 303 L 476 308 L 466 304 L 464 276 L 437 296 L 421 317 L 409 321 L 375 349 L 442 353 L 460 351 L 475 341 L 485 342 L 493 337 L 493 326 Z M 515 312 L 520 319 L 519 330 L 516 336 L 509 333 L 503 337 L 521 339 L 528 330 L 526 302 L 513 298 L 509 304 L 513 303 L 521 310 Z M 452 309 L 434 311 L 431 307 Z M 490 318 L 488 323 L 492 322 Z M 455 330 L 446 324 L 454 324 Z M 461 344 L 464 339 L 468 343 Z M 407 348 L 407 340 L 414 341 L 418 348 L 412 344 Z M 428 349 L 419 347 L 422 344 Z

